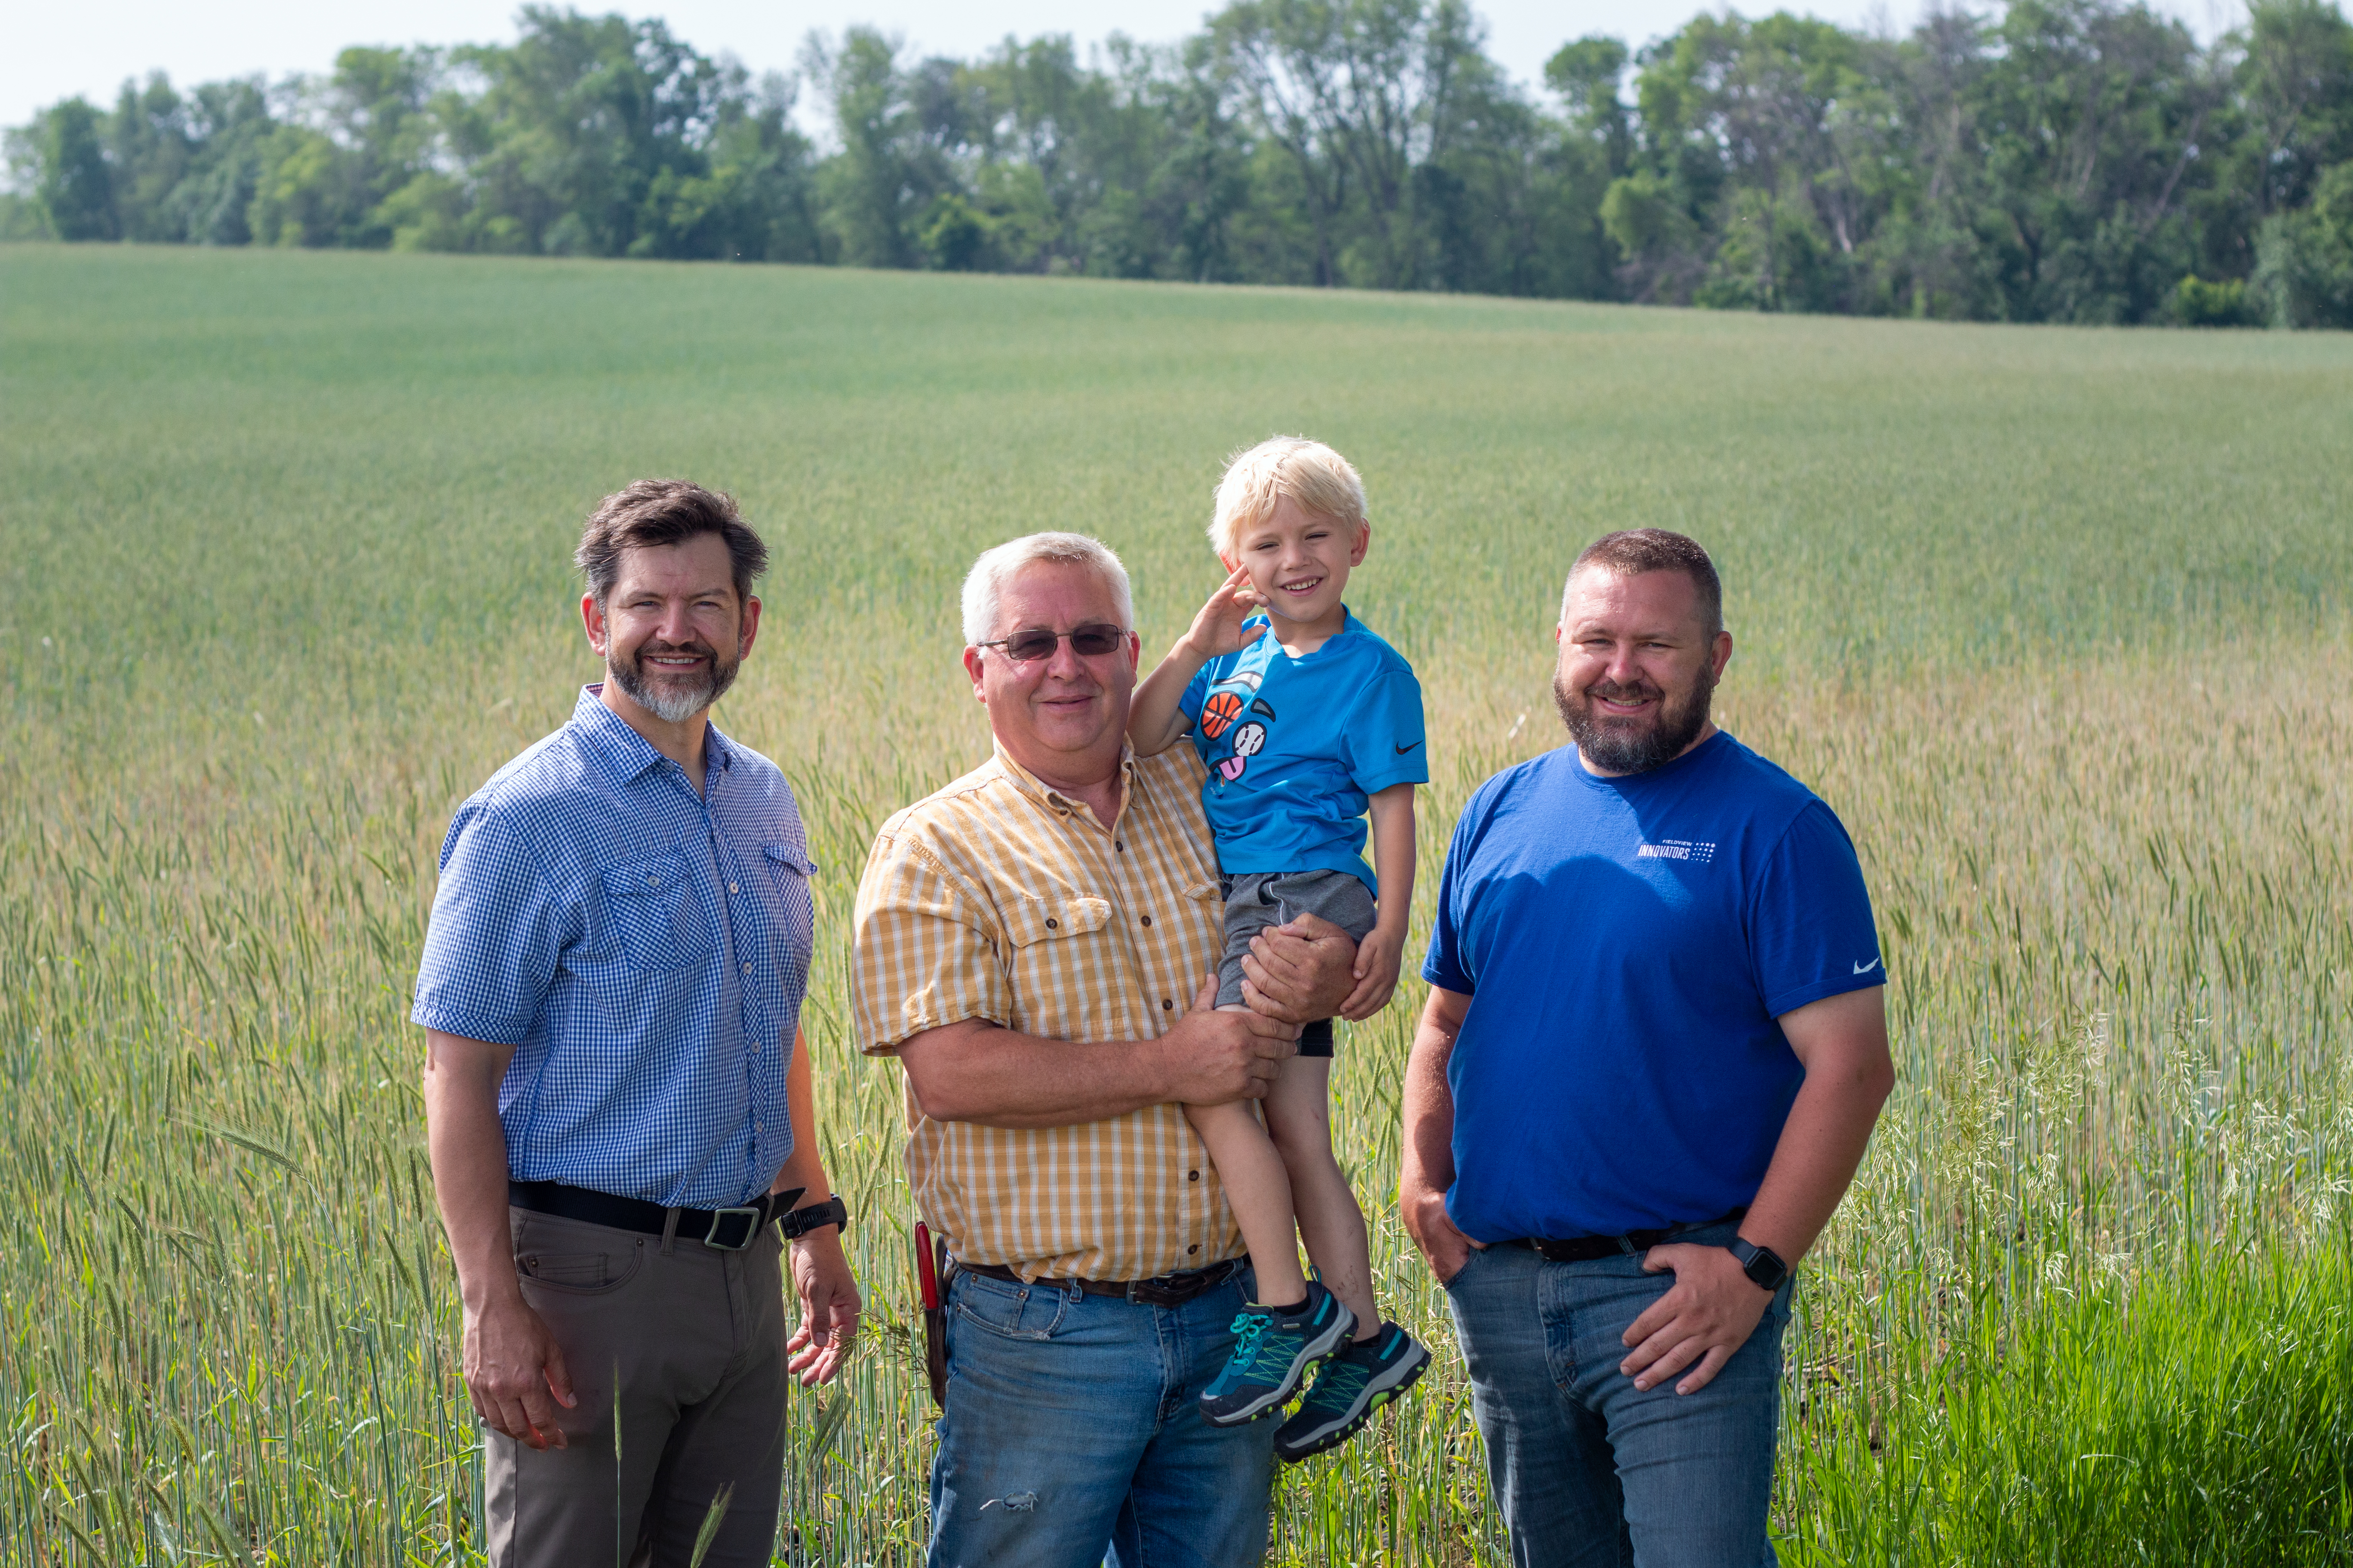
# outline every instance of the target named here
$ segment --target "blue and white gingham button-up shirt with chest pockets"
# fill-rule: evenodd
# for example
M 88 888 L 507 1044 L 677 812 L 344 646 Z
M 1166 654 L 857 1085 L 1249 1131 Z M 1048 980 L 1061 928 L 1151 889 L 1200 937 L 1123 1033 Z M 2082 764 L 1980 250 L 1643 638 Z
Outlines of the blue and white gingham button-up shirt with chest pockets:
M 515 1046 L 515 1180 L 746 1204 L 793 1152 L 816 870 L 800 809 L 715 724 L 696 795 L 598 691 L 452 818 L 409 1018 Z

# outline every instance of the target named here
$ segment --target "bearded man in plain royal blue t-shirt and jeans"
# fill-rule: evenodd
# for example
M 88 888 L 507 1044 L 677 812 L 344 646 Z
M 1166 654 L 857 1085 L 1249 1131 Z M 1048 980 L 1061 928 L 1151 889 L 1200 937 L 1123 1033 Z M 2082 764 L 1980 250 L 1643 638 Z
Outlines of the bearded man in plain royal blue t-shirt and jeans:
M 1454 827 L 1400 1208 L 1445 1281 L 1515 1563 L 1772 1563 L 1788 1269 L 1894 1084 L 1845 827 L 1708 719 L 1706 550 L 1569 569 L 1574 745 Z

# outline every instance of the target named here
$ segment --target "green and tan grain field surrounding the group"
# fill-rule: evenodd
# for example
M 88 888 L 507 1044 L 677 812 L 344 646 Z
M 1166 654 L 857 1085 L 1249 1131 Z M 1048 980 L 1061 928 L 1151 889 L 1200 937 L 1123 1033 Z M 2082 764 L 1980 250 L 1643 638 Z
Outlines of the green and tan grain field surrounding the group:
M 1720 717 L 1861 849 L 1901 1086 L 1805 1265 L 1784 1563 L 2353 1563 L 2353 339 L 125 247 L 0 249 L 0 1563 L 478 1561 L 407 992 L 449 809 L 595 672 L 567 555 L 640 475 L 776 548 L 720 722 L 821 860 L 871 1335 L 795 1401 L 776 1561 L 920 1561 L 859 865 L 986 752 L 972 555 L 1099 534 L 1158 654 L 1275 430 L 1372 491 L 1424 903 L 1560 741 L 1609 527 L 1718 552 Z M 1501 1561 L 1393 1211 L 1419 990 L 1346 1034 L 1337 1133 L 1440 1359 L 1282 1476 L 1278 1563 Z

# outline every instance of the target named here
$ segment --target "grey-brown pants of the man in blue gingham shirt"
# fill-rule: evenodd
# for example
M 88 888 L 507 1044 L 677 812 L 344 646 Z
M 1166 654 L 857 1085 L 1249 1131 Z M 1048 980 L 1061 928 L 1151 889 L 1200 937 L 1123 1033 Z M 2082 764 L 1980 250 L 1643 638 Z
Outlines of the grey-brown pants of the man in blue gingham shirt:
M 567 1448 L 482 1434 L 494 1568 L 765 1568 L 784 1490 L 784 1244 L 701 1241 L 508 1208 L 522 1300 L 546 1319 L 579 1408 Z

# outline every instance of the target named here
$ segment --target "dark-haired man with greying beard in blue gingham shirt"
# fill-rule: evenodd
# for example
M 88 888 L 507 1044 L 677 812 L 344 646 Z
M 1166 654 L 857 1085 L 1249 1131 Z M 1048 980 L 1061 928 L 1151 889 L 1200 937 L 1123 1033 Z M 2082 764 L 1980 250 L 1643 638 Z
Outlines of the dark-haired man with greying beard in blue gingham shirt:
M 767 548 L 640 480 L 579 564 L 605 682 L 459 806 L 412 1013 L 489 1561 L 765 1566 L 788 1380 L 859 1319 L 800 1037 L 816 867 L 784 773 L 708 719 Z

